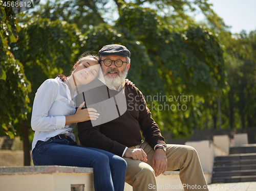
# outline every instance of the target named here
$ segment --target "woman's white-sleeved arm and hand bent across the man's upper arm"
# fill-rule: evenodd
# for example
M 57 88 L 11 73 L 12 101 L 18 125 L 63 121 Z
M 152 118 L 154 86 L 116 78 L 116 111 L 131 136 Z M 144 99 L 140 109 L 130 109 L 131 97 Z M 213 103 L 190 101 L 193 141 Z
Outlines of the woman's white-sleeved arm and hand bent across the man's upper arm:
M 52 79 L 46 80 L 38 88 L 32 110 L 31 127 L 34 131 L 52 131 L 58 130 L 66 125 L 96 120 L 98 113 L 93 108 L 82 109 L 82 103 L 74 115 L 48 116 L 59 91 L 59 84 Z

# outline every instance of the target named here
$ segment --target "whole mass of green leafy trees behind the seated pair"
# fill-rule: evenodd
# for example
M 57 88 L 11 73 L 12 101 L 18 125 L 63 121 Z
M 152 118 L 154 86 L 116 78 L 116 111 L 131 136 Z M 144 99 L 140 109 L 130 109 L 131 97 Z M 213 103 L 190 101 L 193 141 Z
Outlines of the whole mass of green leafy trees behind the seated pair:
M 128 78 L 146 98 L 193 97 L 147 100 L 156 108 L 186 105 L 151 110 L 163 134 L 256 126 L 256 31 L 231 34 L 207 0 L 56 0 L 13 16 L 0 2 L 0 135 L 23 138 L 25 165 L 37 88 L 69 75 L 79 55 L 105 44 L 131 51 Z M 193 16 L 198 10 L 202 23 Z

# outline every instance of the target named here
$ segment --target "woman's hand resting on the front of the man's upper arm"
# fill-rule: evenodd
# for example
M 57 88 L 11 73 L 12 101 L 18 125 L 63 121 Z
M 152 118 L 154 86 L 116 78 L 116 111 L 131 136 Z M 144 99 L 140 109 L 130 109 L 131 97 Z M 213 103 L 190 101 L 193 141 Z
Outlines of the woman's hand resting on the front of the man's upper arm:
M 96 113 L 97 111 L 93 108 L 82 109 L 84 104 L 85 103 L 83 102 L 76 110 L 75 117 L 77 119 L 77 123 L 89 120 L 97 120 L 99 113 Z

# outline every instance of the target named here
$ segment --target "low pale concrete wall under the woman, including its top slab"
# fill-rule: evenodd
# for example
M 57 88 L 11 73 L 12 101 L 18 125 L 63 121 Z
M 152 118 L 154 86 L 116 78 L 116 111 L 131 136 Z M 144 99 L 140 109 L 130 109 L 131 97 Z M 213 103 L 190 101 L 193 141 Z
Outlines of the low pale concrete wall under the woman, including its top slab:
M 93 191 L 93 169 L 71 166 L 20 166 L 0 168 L 1 190 L 70 191 L 77 184 Z M 78 191 L 78 189 L 76 189 Z M 79 191 L 83 191 L 82 189 Z

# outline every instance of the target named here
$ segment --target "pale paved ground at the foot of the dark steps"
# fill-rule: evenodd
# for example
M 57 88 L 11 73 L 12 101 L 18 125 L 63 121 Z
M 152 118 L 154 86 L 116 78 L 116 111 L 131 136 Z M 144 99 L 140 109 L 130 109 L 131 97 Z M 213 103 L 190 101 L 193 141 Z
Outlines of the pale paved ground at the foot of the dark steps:
M 255 191 L 255 182 L 236 182 L 236 183 L 219 183 L 209 184 L 209 191 Z

